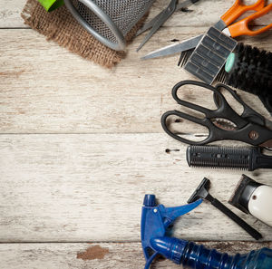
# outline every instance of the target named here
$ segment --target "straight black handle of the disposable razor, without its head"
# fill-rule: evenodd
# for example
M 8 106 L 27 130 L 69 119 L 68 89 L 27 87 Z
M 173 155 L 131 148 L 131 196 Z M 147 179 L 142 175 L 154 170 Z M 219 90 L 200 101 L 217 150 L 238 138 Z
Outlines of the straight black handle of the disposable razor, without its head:
M 238 226 L 242 227 L 249 235 L 251 235 L 256 240 L 262 238 L 262 235 L 257 232 L 256 229 L 249 226 L 244 220 L 242 220 L 239 216 L 233 213 L 228 207 L 224 206 L 217 198 L 211 197 L 208 195 L 206 197 L 207 200 L 211 203 L 212 206 L 217 207 L 222 213 L 231 218 L 234 222 L 238 224 Z

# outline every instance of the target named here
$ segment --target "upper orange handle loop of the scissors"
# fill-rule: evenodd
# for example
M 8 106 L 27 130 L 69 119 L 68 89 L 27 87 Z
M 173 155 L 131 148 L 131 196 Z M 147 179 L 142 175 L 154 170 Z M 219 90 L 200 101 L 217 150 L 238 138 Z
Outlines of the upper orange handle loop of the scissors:
M 228 26 L 238 19 L 241 14 L 246 13 L 248 10 L 259 11 L 266 5 L 266 0 L 258 0 L 253 5 L 243 5 L 241 0 L 236 0 L 228 11 L 221 16 L 221 20 Z

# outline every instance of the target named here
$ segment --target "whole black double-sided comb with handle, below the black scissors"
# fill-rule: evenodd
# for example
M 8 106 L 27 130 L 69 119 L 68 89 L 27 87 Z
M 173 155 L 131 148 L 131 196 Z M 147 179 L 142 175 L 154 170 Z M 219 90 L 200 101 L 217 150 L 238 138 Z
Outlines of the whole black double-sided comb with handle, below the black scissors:
M 272 168 L 272 156 L 262 154 L 258 147 L 189 146 L 186 158 L 189 167 L 197 168 Z

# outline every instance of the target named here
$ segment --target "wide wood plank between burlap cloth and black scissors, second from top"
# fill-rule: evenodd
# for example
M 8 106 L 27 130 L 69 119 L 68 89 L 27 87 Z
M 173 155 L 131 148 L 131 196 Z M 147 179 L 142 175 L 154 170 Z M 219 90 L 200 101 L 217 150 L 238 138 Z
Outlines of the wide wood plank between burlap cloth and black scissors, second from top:
M 135 52 L 140 42 L 137 39 L 130 45 L 127 58 L 111 71 L 55 43 L 44 42 L 44 36 L 32 30 L 2 30 L 0 132 L 161 132 L 162 112 L 178 108 L 170 95 L 171 88 L 193 77 L 176 66 L 179 55 L 151 61 L 139 58 L 169 44 L 171 38 L 185 39 L 204 29 L 165 28 L 141 53 Z M 271 50 L 271 33 L 266 38 L 248 40 Z M 187 99 L 192 93 L 183 92 Z M 202 103 L 209 106 L 213 102 L 198 92 Z M 244 93 L 243 97 L 268 116 L 257 97 Z

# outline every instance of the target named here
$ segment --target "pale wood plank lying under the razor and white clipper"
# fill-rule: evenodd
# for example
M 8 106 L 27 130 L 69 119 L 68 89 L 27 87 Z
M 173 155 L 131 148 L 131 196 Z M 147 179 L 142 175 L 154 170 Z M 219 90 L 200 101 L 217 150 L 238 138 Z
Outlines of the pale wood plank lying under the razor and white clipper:
M 189 168 L 186 146 L 164 134 L 1 135 L 0 149 L 0 242 L 137 241 L 145 193 L 182 205 L 207 177 L 211 193 L 227 203 L 241 175 Z M 246 174 L 271 184 L 269 170 Z M 270 227 L 238 215 L 272 239 Z M 182 216 L 175 235 L 252 239 L 207 203 Z

